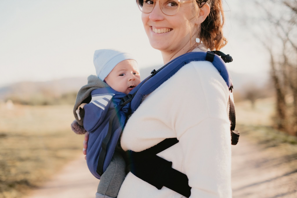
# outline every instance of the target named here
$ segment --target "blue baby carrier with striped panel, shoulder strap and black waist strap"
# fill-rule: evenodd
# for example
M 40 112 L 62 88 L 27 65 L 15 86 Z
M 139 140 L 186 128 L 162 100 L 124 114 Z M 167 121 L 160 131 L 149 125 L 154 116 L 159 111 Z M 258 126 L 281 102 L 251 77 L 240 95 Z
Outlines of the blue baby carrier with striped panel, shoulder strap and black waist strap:
M 127 116 L 136 111 L 144 96 L 153 92 L 162 83 L 173 76 L 181 67 L 192 61 L 212 62 L 229 87 L 230 95 L 232 94 L 233 84 L 225 63 L 232 62 L 233 59 L 229 56 L 229 54 L 225 55 L 220 51 L 189 52 L 181 55 L 161 67 L 159 70 L 153 70 L 151 72 L 151 76 L 143 80 L 129 93 L 129 95 L 116 92 L 111 88 L 95 89 L 91 92 L 92 98 L 102 98 L 105 96 L 109 97 L 105 97 L 105 99 L 103 99 L 108 102 L 104 105 L 105 109 L 108 108 L 108 111 L 104 111 L 106 119 L 102 122 L 94 123 L 91 127 L 85 127 L 90 134 L 97 134 L 96 139 L 89 139 L 87 150 L 87 155 L 89 154 L 90 156 L 89 158 L 87 156 L 87 164 L 91 173 L 95 177 L 100 178 L 107 169 L 115 152 L 116 144 L 119 140 L 121 131 L 127 122 Z M 234 131 L 236 123 L 235 109 L 233 97 L 230 97 L 230 95 L 229 119 L 231 122 L 231 144 L 236 145 L 239 133 L 238 131 Z M 97 106 L 98 105 L 99 104 L 97 104 Z M 92 110 L 92 106 L 87 106 L 88 105 L 85 106 L 85 111 L 87 111 L 88 108 L 88 111 L 94 111 Z M 96 117 L 102 115 L 98 115 L 94 111 L 93 114 L 89 114 L 88 116 Z M 88 118 L 85 117 L 84 126 L 87 120 Z M 178 139 L 169 138 L 141 152 L 127 151 L 127 169 L 135 176 L 150 183 L 158 189 L 166 186 L 185 197 L 189 197 L 191 194 L 191 187 L 188 185 L 187 175 L 173 169 L 171 167 L 172 162 L 156 155 L 157 153 L 173 146 L 177 142 Z

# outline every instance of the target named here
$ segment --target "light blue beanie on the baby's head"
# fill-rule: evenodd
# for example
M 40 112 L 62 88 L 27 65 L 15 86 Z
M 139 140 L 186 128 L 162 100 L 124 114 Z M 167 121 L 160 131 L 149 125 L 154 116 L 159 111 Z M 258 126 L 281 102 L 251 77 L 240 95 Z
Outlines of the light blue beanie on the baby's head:
M 131 54 L 115 49 L 96 50 L 94 53 L 94 66 L 96 69 L 97 77 L 104 81 L 106 76 L 108 76 L 111 70 L 113 70 L 113 68 L 119 62 L 128 59 L 135 60 Z

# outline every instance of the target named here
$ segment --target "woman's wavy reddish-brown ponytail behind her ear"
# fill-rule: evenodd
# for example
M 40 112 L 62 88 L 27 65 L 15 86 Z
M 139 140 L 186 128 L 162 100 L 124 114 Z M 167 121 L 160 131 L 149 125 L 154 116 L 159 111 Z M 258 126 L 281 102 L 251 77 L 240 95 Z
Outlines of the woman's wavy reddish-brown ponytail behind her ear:
M 223 35 L 223 26 L 225 23 L 224 10 L 222 0 L 193 0 L 197 2 L 197 12 L 203 3 L 208 3 L 210 13 L 205 21 L 201 23 L 200 39 L 204 46 L 210 50 L 220 50 L 224 47 L 228 40 Z

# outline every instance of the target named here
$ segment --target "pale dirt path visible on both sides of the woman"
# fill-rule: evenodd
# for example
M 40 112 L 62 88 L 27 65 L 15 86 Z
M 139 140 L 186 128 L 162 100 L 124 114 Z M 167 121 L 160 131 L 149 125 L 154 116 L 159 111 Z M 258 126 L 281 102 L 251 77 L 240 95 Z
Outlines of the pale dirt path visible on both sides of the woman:
M 276 152 L 244 136 L 232 149 L 233 198 L 297 197 L 296 154 Z M 29 198 L 94 198 L 98 181 L 80 156 Z

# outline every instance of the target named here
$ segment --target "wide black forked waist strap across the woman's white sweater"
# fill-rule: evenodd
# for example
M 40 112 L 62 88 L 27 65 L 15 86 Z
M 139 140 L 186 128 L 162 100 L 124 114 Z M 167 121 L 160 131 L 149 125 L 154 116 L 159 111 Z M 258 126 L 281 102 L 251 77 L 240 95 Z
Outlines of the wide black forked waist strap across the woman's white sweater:
M 178 143 L 176 138 L 169 138 L 141 152 L 127 151 L 129 156 L 127 168 L 133 175 L 159 190 L 165 186 L 185 197 L 189 197 L 191 187 L 188 184 L 187 175 L 173 169 L 171 167 L 172 162 L 156 155 L 176 143 Z

